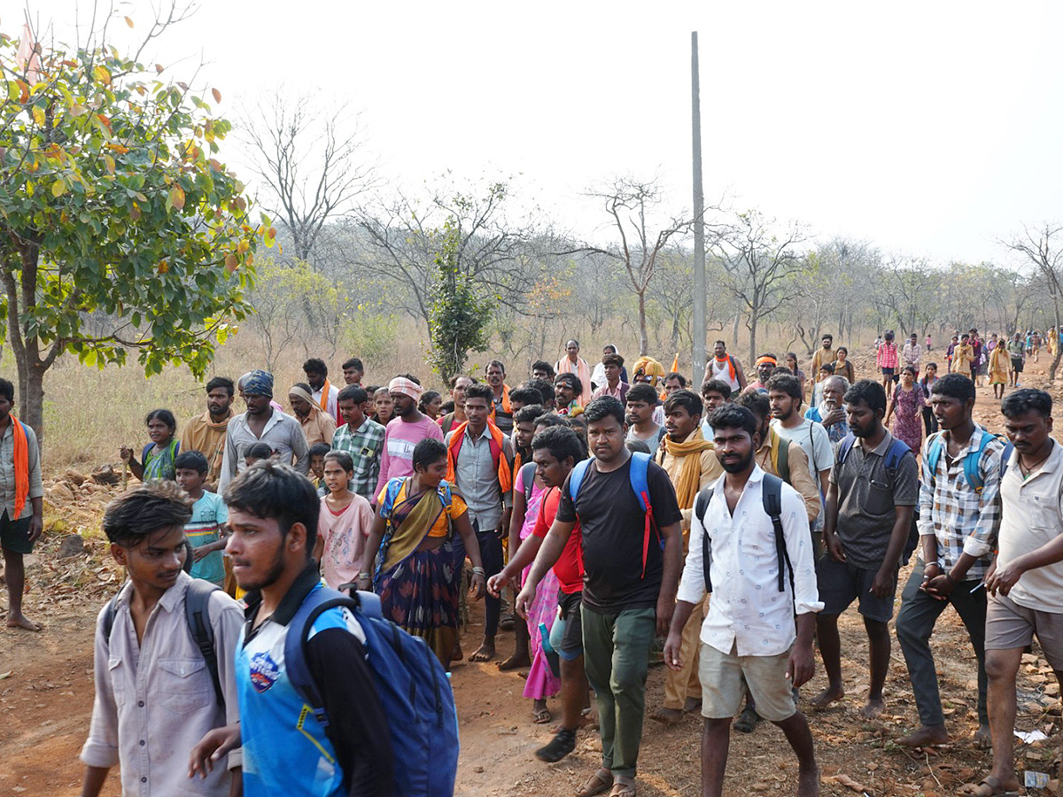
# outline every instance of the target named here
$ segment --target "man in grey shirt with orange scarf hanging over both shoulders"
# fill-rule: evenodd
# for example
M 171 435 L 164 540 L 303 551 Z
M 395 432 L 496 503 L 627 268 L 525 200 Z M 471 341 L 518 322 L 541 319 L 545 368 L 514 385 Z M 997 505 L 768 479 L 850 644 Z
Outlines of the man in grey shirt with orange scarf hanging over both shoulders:
M 493 391 L 487 385 L 470 385 L 466 391 L 469 420 L 446 434 L 448 480 L 469 507 L 469 520 L 479 542 L 487 577 L 502 572 L 502 536 L 509 528 L 513 507 L 513 444 L 509 436 L 488 420 Z M 484 599 L 484 643 L 469 661 L 494 658 L 502 599 Z

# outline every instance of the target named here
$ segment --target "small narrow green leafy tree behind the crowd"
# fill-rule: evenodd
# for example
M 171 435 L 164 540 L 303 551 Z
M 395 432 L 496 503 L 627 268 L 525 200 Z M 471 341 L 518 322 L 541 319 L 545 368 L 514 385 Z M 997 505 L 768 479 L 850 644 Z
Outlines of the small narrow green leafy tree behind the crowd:
M 461 235 L 453 219 L 444 223 L 440 240 L 428 310 L 428 361 L 444 381 L 450 381 L 465 368 L 469 352 L 487 349 L 491 311 L 476 290 L 475 277 L 458 265 Z

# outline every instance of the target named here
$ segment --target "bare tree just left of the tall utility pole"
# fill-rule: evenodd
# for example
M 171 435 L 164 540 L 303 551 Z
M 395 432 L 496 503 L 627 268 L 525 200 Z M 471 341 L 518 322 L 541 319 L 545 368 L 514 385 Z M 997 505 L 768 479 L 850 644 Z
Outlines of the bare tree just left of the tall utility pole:
M 657 232 L 649 228 L 647 214 L 662 202 L 658 181 L 641 182 L 634 177 L 615 177 L 606 188 L 591 191 L 589 196 L 605 204 L 610 224 L 615 227 L 620 242 L 609 247 L 589 247 L 588 251 L 609 255 L 623 265 L 627 278 L 639 301 L 639 354 L 645 355 L 649 346 L 646 334 L 646 290 L 657 274 L 661 253 L 673 239 L 685 236 L 693 223 L 684 216 L 672 216 Z

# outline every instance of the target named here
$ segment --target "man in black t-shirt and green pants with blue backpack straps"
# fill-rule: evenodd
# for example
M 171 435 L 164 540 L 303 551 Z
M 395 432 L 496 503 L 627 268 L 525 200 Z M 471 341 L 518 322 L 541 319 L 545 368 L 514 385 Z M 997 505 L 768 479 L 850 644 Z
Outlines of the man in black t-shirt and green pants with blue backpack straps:
M 668 474 L 653 462 L 640 462 L 646 472 L 645 487 L 639 489 L 648 495 L 648 507 L 636 495 L 635 457 L 646 455 L 632 455 L 624 445 L 620 402 L 597 398 L 583 418 L 594 459 L 566 479 L 557 516 L 517 596 L 517 608 L 526 616 L 540 579 L 560 558 L 578 520 L 584 656 L 602 736 L 602 766 L 578 794 L 611 788 L 610 797 L 635 797 L 649 646 L 675 611 L 682 515 Z

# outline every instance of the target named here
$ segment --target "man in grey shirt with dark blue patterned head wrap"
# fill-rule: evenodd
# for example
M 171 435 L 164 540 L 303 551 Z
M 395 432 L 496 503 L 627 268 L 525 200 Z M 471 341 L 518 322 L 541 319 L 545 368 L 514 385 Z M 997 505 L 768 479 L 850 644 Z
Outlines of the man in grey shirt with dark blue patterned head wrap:
M 254 370 L 243 378 L 243 401 L 248 411 L 234 417 L 225 431 L 225 454 L 221 460 L 218 492 L 222 492 L 234 476 L 248 467 L 244 451 L 255 443 L 266 443 L 277 459 L 292 464 L 302 474 L 310 467 L 310 453 L 303 427 L 291 416 L 270 405 L 273 397 L 273 374 Z

